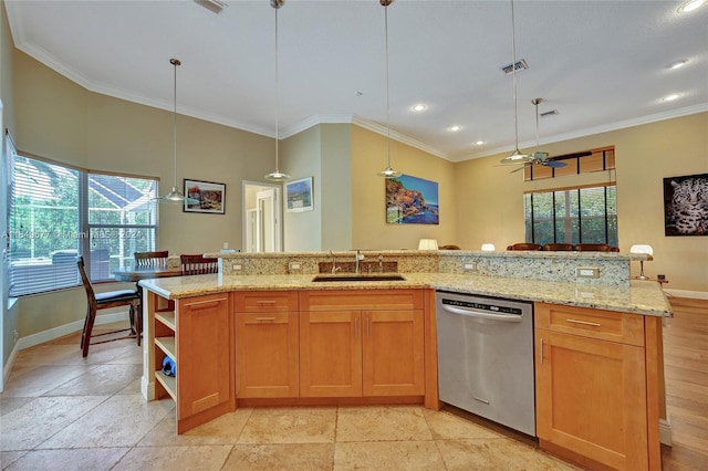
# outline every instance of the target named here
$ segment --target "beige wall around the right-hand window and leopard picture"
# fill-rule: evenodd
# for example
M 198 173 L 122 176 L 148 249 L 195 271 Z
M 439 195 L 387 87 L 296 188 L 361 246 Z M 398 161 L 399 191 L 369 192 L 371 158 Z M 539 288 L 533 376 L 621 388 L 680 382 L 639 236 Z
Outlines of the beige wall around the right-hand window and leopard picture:
M 646 124 L 594 136 L 544 145 L 560 155 L 614 145 L 617 181 L 620 249 L 635 243 L 654 248 L 648 275 L 663 273 L 667 289 L 708 292 L 708 237 L 664 236 L 663 179 L 708 172 L 708 113 Z M 523 182 L 497 163 L 504 155 L 468 160 L 456 166 L 458 238 L 464 248 L 478 250 L 493 242 L 498 250 L 524 240 L 523 200 L 527 190 L 571 186 L 591 179 L 607 181 L 607 172 L 583 177 Z M 582 181 L 581 181 L 582 180 Z M 633 275 L 638 266 L 632 266 Z

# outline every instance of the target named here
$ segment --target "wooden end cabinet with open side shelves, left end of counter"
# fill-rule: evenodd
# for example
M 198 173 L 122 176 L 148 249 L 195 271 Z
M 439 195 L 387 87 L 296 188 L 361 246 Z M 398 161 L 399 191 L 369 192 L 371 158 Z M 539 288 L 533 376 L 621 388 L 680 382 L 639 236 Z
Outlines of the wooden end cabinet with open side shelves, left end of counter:
M 146 364 L 152 365 L 146 371 L 146 396 L 170 396 L 176 401 L 177 433 L 233 410 L 233 322 L 229 294 L 177 300 L 173 312 L 157 308 L 166 304 L 157 294 L 146 292 L 145 297 L 149 322 Z M 176 363 L 174 377 L 162 373 L 165 355 Z M 152 395 L 150 381 L 154 381 Z

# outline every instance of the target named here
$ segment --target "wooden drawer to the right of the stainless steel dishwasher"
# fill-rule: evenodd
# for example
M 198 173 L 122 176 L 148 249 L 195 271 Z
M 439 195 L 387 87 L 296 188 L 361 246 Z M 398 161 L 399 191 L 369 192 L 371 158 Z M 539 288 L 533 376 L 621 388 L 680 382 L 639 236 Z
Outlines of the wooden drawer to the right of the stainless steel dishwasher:
M 535 303 L 537 328 L 644 346 L 644 316 L 589 307 Z

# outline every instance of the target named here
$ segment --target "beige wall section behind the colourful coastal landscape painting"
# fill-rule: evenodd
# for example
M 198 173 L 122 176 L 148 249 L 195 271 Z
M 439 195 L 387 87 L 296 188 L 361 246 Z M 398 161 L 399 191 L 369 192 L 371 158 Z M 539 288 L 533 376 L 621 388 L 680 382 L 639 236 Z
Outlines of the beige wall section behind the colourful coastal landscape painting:
M 391 166 L 406 175 L 438 182 L 440 223 L 386 223 L 386 136 L 352 126 L 352 242 L 361 249 L 417 249 L 420 239 L 458 244 L 455 165 L 408 145 L 391 142 Z

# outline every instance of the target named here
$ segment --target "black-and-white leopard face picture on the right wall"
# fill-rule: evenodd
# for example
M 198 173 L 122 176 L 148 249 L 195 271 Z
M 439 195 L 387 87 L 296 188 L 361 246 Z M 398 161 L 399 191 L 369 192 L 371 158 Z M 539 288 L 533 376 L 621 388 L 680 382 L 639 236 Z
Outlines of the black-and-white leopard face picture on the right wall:
M 708 174 L 664 179 L 664 233 L 708 236 Z

